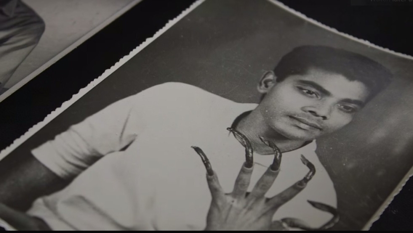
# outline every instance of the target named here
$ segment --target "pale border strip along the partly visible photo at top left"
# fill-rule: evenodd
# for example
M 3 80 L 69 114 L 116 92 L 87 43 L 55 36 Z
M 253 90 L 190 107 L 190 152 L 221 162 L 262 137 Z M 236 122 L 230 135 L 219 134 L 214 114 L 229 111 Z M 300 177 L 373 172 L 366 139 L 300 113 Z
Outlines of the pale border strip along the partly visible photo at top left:
M 30 73 L 28 76 L 26 76 L 24 79 L 20 80 L 18 83 L 13 85 L 10 89 L 5 91 L 3 94 L 0 95 L 0 102 L 4 101 L 6 98 L 11 96 L 13 93 L 15 93 L 17 90 L 19 90 L 21 87 L 26 85 L 30 80 L 36 78 L 38 75 L 40 75 L 43 71 L 48 69 L 50 66 L 58 62 L 60 59 L 62 59 L 64 56 L 72 52 L 75 48 L 79 47 L 81 44 L 83 44 L 85 41 L 87 41 L 89 38 L 93 37 L 95 34 L 100 32 L 103 28 L 114 22 L 116 19 L 121 17 L 123 14 L 131 10 L 133 7 L 135 7 L 138 3 L 142 2 L 142 0 L 134 0 L 130 4 L 126 5 L 124 8 L 122 8 L 120 11 L 116 12 L 114 15 L 112 15 L 110 18 L 106 19 L 104 22 L 102 22 L 100 25 L 97 27 L 93 28 L 91 31 L 89 31 L 87 34 L 79 38 L 77 41 L 75 41 L 73 44 L 71 44 L 69 47 L 64 49 L 62 52 L 54 56 L 52 59 L 47 61 L 45 64 L 37 68 L 35 71 Z

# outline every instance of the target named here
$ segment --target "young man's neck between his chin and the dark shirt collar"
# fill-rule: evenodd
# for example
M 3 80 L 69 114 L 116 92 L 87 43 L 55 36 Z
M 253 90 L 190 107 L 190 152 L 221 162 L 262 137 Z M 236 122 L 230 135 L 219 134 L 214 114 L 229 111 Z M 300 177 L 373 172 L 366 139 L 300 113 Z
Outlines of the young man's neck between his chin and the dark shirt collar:
M 266 140 L 272 141 L 281 152 L 287 152 L 298 149 L 305 145 L 306 141 L 291 140 L 283 135 L 269 129 L 261 115 L 255 111 L 245 112 L 241 114 L 232 125 L 240 133 L 244 134 L 251 142 L 254 152 L 262 155 L 273 154 L 273 150 L 265 145 L 259 136 L 264 137 Z M 239 138 L 237 138 L 240 140 Z

